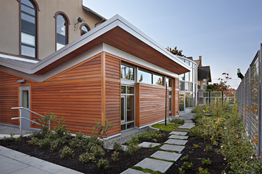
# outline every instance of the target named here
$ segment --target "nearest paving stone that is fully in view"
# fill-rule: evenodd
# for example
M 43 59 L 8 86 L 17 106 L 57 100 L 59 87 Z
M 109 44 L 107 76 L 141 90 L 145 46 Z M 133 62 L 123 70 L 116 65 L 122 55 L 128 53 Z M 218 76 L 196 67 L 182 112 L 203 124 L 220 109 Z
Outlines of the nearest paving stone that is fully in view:
M 152 171 L 160 171 L 161 173 L 165 173 L 168 170 L 168 168 L 172 166 L 172 164 L 173 163 L 167 162 L 167 161 L 146 158 L 146 159 L 143 159 L 143 161 L 140 161 L 135 166 L 139 166 L 142 168 L 148 168 L 148 169 L 151 169 Z

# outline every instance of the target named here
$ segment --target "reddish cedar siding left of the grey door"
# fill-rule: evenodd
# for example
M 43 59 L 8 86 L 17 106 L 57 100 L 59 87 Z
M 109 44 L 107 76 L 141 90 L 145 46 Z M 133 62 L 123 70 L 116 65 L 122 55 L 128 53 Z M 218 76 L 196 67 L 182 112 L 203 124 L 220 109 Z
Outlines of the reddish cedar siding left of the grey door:
M 1 81 L 3 81 L 1 77 Z M 11 120 L 11 118 L 17 117 L 17 109 L 11 109 L 12 107 L 18 107 L 18 88 L 17 86 L 0 86 L 0 122 L 10 125 L 18 125 L 17 120 Z

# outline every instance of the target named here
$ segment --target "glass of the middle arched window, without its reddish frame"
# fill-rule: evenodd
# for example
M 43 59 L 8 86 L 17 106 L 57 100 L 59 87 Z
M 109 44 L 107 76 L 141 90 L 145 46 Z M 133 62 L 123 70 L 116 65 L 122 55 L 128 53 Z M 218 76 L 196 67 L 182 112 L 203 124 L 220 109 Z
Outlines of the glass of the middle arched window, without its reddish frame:
M 57 15 L 57 50 L 67 45 L 67 32 L 66 18 L 61 14 Z

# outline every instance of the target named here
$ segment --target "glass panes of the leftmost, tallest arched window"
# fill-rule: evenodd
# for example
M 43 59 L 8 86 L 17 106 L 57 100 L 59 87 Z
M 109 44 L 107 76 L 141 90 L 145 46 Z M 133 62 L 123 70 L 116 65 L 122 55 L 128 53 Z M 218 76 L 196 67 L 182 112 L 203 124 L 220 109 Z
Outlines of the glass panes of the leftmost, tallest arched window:
M 34 1 L 35 2 L 35 1 Z M 30 0 L 20 1 L 21 32 L 20 32 L 20 55 L 36 58 L 37 48 L 37 11 L 38 6 Z

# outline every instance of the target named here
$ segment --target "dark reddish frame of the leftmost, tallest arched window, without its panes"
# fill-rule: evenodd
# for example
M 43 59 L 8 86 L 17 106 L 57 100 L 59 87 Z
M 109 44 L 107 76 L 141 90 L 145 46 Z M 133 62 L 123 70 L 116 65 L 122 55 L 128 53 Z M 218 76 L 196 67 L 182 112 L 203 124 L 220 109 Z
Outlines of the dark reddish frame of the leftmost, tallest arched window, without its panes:
M 34 9 L 35 9 L 35 16 L 34 16 L 35 17 L 35 26 L 36 26 L 36 34 L 34 35 L 35 36 L 35 46 L 34 46 L 35 57 L 22 55 L 22 45 L 24 45 L 26 47 L 32 47 L 32 46 L 22 43 L 22 20 L 24 22 L 27 22 L 27 21 L 22 19 L 22 15 L 21 15 L 22 14 L 22 8 L 21 8 L 22 3 L 21 3 L 21 0 L 17 0 L 17 2 L 19 3 L 19 56 L 38 59 L 38 12 L 40 10 L 39 10 L 39 6 L 38 6 L 38 3 L 36 2 L 36 0 L 29 0 L 29 1 L 33 4 Z M 27 4 L 23 4 L 23 5 L 27 6 Z M 31 7 L 29 7 L 29 8 L 31 8 Z M 25 12 L 24 14 L 28 15 L 29 13 Z M 32 15 L 30 15 L 30 16 L 32 16 Z M 31 22 L 28 22 L 28 23 L 31 24 Z M 23 33 L 31 35 L 30 33 L 27 33 L 27 32 L 24 32 L 24 31 L 23 31 Z

